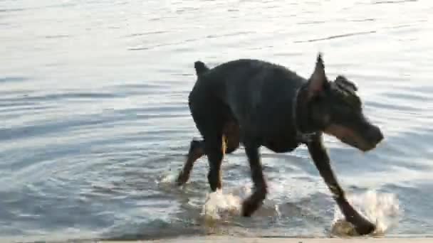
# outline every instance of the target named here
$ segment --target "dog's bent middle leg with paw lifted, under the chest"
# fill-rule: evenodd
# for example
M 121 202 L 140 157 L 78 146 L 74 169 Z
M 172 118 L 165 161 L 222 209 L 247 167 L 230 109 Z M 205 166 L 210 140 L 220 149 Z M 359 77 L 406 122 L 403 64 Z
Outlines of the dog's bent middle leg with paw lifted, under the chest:
M 263 204 L 268 193 L 266 180 L 261 166 L 259 148 L 256 146 L 245 147 L 246 156 L 251 168 L 251 178 L 254 183 L 254 193 L 242 204 L 242 216 L 250 217 Z

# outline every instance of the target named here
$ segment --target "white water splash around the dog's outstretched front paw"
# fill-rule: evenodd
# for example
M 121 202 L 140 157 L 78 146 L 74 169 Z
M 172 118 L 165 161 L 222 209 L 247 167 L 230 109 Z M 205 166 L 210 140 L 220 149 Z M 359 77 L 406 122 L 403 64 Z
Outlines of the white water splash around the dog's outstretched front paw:
M 376 225 L 373 234 L 385 234 L 398 223 L 401 212 L 394 194 L 370 190 L 360 195 L 348 195 L 348 201 L 355 210 Z M 334 209 L 332 233 L 343 236 L 356 234 L 353 225 L 345 220 L 337 205 Z

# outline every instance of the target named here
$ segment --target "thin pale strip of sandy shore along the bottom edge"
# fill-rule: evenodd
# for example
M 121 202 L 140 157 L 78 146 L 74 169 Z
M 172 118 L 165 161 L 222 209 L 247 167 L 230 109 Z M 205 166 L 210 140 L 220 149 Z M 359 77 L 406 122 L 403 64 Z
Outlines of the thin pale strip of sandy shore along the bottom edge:
M 154 243 L 432 243 L 433 238 L 322 238 L 322 239 L 303 239 L 303 238 L 244 238 L 244 237 L 182 237 L 175 239 L 157 239 L 152 241 L 137 241 L 137 242 L 154 242 Z M 111 242 L 113 243 L 113 242 Z M 120 243 L 120 242 L 118 242 Z M 125 242 L 122 242 L 125 243 Z

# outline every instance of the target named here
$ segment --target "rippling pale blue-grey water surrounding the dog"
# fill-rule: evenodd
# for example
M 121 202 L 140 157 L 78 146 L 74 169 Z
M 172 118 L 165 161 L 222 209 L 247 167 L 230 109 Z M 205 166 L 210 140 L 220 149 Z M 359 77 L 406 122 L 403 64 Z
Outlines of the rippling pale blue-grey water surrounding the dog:
M 385 133 L 371 153 L 326 137 L 335 173 L 384 237 L 432 236 L 431 1 L 0 1 L 0 239 L 191 234 L 328 237 L 340 215 L 305 147 L 262 150 L 270 194 L 242 149 L 208 195 L 205 158 L 170 181 L 197 130 L 193 62 L 260 58 L 358 83 Z M 347 232 L 346 232 L 347 233 Z

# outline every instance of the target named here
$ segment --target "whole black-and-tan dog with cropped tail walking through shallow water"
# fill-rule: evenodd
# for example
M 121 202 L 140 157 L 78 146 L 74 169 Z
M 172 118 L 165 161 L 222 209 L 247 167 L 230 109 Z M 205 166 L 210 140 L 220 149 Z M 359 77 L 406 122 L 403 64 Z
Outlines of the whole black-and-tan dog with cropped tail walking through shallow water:
M 187 182 L 194 161 L 207 155 L 209 185 L 212 191 L 221 188 L 224 154 L 241 143 L 255 187 L 242 207 L 242 215 L 250 216 L 267 193 L 259 148 L 285 153 L 306 144 L 346 220 L 360 234 L 374 231 L 375 225 L 346 200 L 322 142 L 323 132 L 361 151 L 370 151 L 382 141 L 380 129 L 362 113 L 353 82 L 343 76 L 328 81 L 320 53 L 308 80 L 261 60 L 234 60 L 212 69 L 197 61 L 194 66 L 197 82 L 189 94 L 189 109 L 203 140 L 191 142 L 177 178 L 179 185 Z

